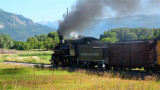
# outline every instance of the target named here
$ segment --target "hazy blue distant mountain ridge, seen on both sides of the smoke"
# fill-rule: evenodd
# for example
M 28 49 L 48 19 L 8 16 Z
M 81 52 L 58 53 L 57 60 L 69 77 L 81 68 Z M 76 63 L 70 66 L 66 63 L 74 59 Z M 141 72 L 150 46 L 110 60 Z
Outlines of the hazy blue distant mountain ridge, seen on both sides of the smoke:
M 54 22 L 54 21 L 53 21 Z M 91 36 L 99 38 L 100 34 L 103 34 L 104 31 L 114 29 L 114 28 L 160 28 L 160 14 L 153 15 L 134 15 L 134 16 L 124 16 L 108 19 L 99 19 L 93 27 L 89 27 L 83 32 L 80 32 L 81 35 Z M 39 22 L 41 23 L 41 22 Z M 49 22 L 50 24 L 51 22 Z M 42 24 L 42 23 L 41 23 Z M 49 26 L 47 22 L 43 25 Z M 58 28 L 58 25 L 52 24 L 51 28 Z M 54 26 L 55 25 L 55 26 Z

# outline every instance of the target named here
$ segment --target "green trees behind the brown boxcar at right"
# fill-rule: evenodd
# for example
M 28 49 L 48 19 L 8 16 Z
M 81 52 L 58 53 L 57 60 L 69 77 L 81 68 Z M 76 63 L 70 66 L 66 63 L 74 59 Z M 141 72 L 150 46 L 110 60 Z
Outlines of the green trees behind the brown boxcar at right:
M 159 35 L 160 28 L 117 28 L 105 31 L 103 35 L 100 35 L 100 40 L 114 43 L 116 41 L 153 39 Z

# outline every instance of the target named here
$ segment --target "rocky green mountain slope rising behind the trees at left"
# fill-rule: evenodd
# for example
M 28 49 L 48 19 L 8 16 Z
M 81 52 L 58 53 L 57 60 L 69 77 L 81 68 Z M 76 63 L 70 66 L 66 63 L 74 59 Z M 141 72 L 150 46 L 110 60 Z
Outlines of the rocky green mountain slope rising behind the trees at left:
M 37 24 L 32 20 L 0 10 L 0 33 L 8 34 L 14 40 L 26 41 L 28 37 L 47 34 L 55 31 L 47 26 Z

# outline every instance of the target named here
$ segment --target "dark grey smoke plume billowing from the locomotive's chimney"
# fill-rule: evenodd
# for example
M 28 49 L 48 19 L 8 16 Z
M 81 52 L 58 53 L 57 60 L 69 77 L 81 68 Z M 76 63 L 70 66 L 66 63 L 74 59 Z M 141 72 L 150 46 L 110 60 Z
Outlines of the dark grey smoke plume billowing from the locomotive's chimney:
M 58 34 L 60 36 L 84 30 L 92 25 L 96 18 L 100 18 L 106 8 L 115 12 L 116 16 L 132 15 L 141 9 L 143 0 L 77 0 L 71 12 L 59 25 Z M 149 2 L 154 1 L 150 0 Z M 159 2 L 160 0 L 155 0 Z M 155 2 L 155 3 L 156 3 Z

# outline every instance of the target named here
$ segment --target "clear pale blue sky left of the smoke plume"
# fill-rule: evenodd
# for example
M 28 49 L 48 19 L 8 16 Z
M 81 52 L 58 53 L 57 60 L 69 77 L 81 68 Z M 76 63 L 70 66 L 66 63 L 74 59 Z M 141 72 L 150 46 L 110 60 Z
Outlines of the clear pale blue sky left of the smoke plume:
M 76 0 L 0 0 L 0 9 L 23 15 L 35 22 L 62 19 Z

